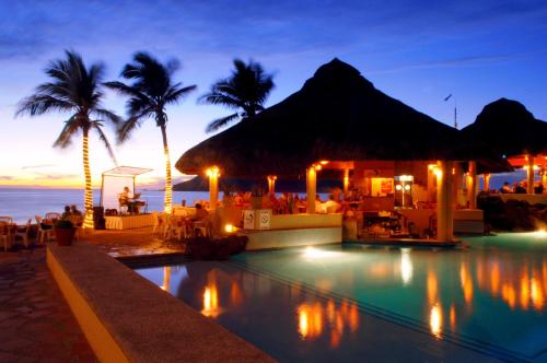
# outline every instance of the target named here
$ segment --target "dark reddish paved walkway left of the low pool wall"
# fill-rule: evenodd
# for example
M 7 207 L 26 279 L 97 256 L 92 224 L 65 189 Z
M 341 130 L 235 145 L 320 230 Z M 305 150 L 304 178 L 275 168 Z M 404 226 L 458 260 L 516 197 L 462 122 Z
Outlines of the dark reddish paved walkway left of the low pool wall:
M 96 362 L 43 247 L 0 253 L 0 362 Z

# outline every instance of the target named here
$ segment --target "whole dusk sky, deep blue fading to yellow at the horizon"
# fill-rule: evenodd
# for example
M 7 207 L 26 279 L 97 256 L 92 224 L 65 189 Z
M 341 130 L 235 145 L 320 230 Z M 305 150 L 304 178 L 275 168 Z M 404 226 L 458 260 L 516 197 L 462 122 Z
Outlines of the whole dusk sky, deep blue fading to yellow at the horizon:
M 547 120 L 545 0 L 0 0 L 0 186 L 83 185 L 81 139 L 66 150 L 51 147 L 68 115 L 14 117 L 63 49 L 80 52 L 88 65 L 104 62 L 105 81 L 118 80 L 139 50 L 181 61 L 175 81 L 198 90 L 167 108 L 173 164 L 209 137 L 209 121 L 229 115 L 197 98 L 230 74 L 234 58 L 256 60 L 275 74 L 266 106 L 337 57 L 379 90 L 445 124 L 453 125 L 454 106 L 464 127 L 500 97 Z M 104 105 L 124 116 L 125 99 L 106 96 Z M 106 132 L 114 141 L 113 130 Z M 90 150 L 93 184 L 100 185 L 114 164 L 96 137 Z M 152 119 L 116 147 L 116 156 L 120 165 L 153 168 L 141 180 L 161 186 L 162 140 Z M 184 178 L 176 169 L 174 176 Z

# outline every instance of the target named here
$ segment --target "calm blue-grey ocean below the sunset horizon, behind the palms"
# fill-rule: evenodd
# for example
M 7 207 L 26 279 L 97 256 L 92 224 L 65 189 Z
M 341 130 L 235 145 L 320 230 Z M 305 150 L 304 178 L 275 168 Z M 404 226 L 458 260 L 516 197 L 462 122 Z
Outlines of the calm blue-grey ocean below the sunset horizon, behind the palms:
M 499 189 L 504 182 L 513 183 L 523 180 L 525 173 L 492 175 L 490 188 Z M 537 178 L 536 178 L 537 180 Z M 479 178 L 479 188 L 482 187 L 482 178 Z M 148 211 L 163 210 L 164 192 L 160 190 L 139 190 L 141 199 L 148 202 Z M 98 204 L 101 190 L 93 190 L 93 202 Z M 326 195 L 322 195 L 325 199 Z M 209 200 L 207 191 L 173 191 L 173 203 L 179 204 L 186 199 L 187 206 L 194 206 L 198 200 Z M 222 192 L 219 196 L 222 200 Z M 24 223 L 34 215 L 44 215 L 47 212 L 62 212 L 67 204 L 75 204 L 83 210 L 83 190 L 81 189 L 34 189 L 34 188 L 1 188 L 0 187 L 0 215 L 10 215 L 16 223 Z

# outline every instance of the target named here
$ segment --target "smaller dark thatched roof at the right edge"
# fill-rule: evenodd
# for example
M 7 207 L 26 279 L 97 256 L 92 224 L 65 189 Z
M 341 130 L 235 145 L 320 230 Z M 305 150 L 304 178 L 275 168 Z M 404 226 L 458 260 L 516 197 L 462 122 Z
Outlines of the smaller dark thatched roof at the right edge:
M 500 98 L 482 108 L 462 133 L 469 145 L 484 145 L 505 156 L 547 152 L 547 122 L 516 101 Z

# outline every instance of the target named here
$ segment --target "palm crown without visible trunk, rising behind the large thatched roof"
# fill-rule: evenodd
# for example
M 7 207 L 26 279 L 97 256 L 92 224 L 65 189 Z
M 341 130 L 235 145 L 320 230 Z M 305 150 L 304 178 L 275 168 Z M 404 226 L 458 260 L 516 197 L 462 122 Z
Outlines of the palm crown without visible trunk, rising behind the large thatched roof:
M 234 59 L 235 70 L 228 79 L 211 85 L 211 91 L 199 101 L 210 105 L 223 105 L 236 112 L 230 116 L 213 120 L 207 126 L 206 132 L 213 132 L 236 119 L 255 116 L 264 109 L 264 103 L 275 87 L 274 74 L 264 71 L 260 63 L 249 60 L 245 65 L 241 59 Z

